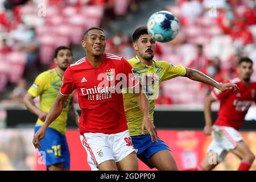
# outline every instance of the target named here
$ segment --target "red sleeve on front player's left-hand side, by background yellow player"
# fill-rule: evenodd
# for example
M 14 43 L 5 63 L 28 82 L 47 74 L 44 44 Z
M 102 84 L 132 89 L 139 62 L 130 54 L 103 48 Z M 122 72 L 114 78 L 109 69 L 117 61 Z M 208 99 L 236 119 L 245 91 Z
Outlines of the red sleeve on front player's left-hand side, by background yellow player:
M 60 93 L 63 96 L 68 96 L 76 89 L 75 83 L 73 82 L 73 78 L 71 75 L 70 66 L 65 70 L 63 75 L 63 81 L 60 86 Z

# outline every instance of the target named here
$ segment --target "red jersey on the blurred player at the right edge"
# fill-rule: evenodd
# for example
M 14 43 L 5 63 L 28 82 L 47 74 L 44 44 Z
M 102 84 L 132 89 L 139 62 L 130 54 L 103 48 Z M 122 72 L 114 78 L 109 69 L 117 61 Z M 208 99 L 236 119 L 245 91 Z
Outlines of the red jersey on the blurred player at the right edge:
M 234 78 L 230 82 L 237 84 L 240 88 L 237 90 L 237 93 L 234 93 L 233 89 L 226 92 L 213 89 L 211 93 L 216 100 L 220 100 L 220 109 L 218 110 L 215 125 L 229 126 L 239 130 L 251 106 L 251 102 L 256 101 L 256 82 L 250 82 L 248 88 L 246 88 L 240 78 Z

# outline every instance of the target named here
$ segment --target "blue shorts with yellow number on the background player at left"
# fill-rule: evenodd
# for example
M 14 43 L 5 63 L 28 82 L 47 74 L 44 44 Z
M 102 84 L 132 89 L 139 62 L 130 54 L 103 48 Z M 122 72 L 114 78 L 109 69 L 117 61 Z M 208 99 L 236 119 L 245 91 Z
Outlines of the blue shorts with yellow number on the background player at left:
M 35 127 L 35 133 L 40 129 L 40 126 Z M 70 154 L 68 150 L 68 143 L 65 135 L 59 133 L 51 128 L 46 129 L 45 137 L 40 140 L 41 156 L 46 163 L 46 166 L 51 166 L 56 163 L 64 163 L 64 168 L 70 168 Z M 43 155 L 42 155 L 43 154 Z M 45 154 L 45 157 L 44 157 Z

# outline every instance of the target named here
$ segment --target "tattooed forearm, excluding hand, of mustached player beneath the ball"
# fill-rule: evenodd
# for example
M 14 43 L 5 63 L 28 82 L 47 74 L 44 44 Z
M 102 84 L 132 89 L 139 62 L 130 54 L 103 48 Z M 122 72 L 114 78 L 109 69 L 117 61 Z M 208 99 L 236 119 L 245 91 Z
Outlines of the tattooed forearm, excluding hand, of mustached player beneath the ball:
M 213 80 L 209 76 L 205 75 L 204 73 L 196 70 L 196 69 L 191 69 L 191 68 L 186 68 L 186 74 L 185 77 L 188 77 L 191 80 L 203 82 L 204 84 L 208 84 L 211 86 L 214 86 L 217 88 L 219 82 Z

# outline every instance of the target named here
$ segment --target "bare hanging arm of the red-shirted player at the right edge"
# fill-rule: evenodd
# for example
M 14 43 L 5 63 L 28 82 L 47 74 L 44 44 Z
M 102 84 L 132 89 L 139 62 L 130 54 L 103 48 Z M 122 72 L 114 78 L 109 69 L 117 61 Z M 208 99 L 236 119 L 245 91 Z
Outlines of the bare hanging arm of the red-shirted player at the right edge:
M 215 99 L 212 97 L 211 94 L 205 98 L 204 102 L 204 120 L 205 120 L 205 127 L 204 127 L 204 133 L 206 135 L 210 135 L 212 133 L 212 102 L 214 102 Z

